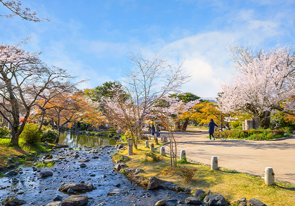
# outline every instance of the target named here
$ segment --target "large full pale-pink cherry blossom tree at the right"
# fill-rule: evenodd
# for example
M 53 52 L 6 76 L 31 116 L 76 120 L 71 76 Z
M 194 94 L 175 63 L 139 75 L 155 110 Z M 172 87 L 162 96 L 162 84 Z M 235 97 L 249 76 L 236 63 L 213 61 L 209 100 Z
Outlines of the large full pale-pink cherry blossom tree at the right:
M 218 98 L 221 111 L 238 111 L 262 119 L 269 127 L 271 110 L 295 115 L 295 52 L 289 44 L 266 52 L 230 44 L 235 72 Z M 291 101 L 290 101 L 291 100 Z

